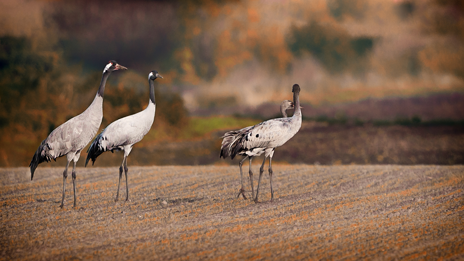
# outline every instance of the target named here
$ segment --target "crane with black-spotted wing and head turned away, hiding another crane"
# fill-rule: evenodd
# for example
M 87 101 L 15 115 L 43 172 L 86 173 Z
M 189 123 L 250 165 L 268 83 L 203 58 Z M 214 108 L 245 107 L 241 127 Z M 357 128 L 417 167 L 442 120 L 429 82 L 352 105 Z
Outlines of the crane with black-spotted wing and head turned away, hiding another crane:
M 292 117 L 271 119 L 258 123 L 251 128 L 247 127 L 244 131 L 237 134 L 237 137 L 230 145 L 230 150 L 228 152 L 231 154 L 232 159 L 240 154 L 245 154 L 250 157 L 264 153 L 263 164 L 259 168 L 259 180 L 254 200 L 255 203 L 259 203 L 259 186 L 264 172 L 264 162 L 267 157 L 270 157 L 269 179 L 271 182 L 271 200 L 274 200 L 274 189 L 272 187 L 272 156 L 274 155 L 274 150 L 290 140 L 301 127 L 301 108 L 299 101 L 300 86 L 294 84 L 292 92 L 295 107 L 295 113 Z

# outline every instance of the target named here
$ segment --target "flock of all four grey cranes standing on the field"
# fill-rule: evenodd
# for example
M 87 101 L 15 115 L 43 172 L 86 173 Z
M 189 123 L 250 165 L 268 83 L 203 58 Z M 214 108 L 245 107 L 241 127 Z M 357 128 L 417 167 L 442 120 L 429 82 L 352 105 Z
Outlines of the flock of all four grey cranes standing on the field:
M 103 119 L 103 93 L 105 84 L 111 72 L 115 70 L 127 70 L 126 67 L 119 65 L 116 61 L 110 61 L 103 69 L 102 80 L 97 90 L 97 95 L 90 106 L 81 114 L 64 122 L 52 131 L 48 137 L 41 142 L 39 148 L 32 157 L 31 164 L 31 180 L 34 177 L 34 172 L 40 163 L 49 162 L 52 159 L 56 161 L 57 158 L 66 156 L 66 166 L 63 172 L 63 195 L 61 198 L 60 208 L 64 207 L 64 196 L 66 191 L 66 178 L 68 177 L 68 168 L 73 161 L 71 172 L 73 192 L 74 192 L 74 205 L 76 207 L 76 163 L 79 160 L 80 154 L 87 144 L 95 137 L 100 128 Z M 128 182 L 128 167 L 127 158 L 132 146 L 142 140 L 142 138 L 150 130 L 155 118 L 155 79 L 163 78 L 156 70 L 148 74 L 149 86 L 149 101 L 147 108 L 134 115 L 129 115 L 116 120 L 103 131 L 98 134 L 90 144 L 87 150 L 87 157 L 85 159 L 85 166 L 92 161 L 92 166 L 97 157 L 107 151 L 124 151 L 124 158 L 122 159 L 121 166 L 119 167 L 119 183 L 116 193 L 115 201 L 119 198 L 119 189 L 121 187 L 122 171 L 124 170 L 126 178 L 126 201 L 129 199 L 129 182 Z M 271 200 L 274 200 L 274 189 L 272 186 L 272 156 L 274 150 L 284 145 L 285 142 L 290 140 L 301 127 L 301 109 L 299 102 L 300 86 L 294 84 L 292 87 L 293 102 L 284 100 L 280 106 L 282 118 L 271 119 L 258 123 L 255 126 L 245 127 L 236 131 L 230 131 L 222 136 L 221 152 L 219 158 L 226 159 L 229 155 L 233 159 L 237 155 L 244 156 L 240 160 L 238 166 L 240 168 L 241 188 L 238 197 L 242 195 L 244 199 L 245 188 L 243 184 L 242 165 L 245 159 L 250 161 L 250 183 L 251 195 L 255 203 L 258 201 L 259 187 L 261 185 L 261 178 L 264 172 L 264 163 L 269 157 L 269 179 L 271 182 Z M 294 108 L 293 116 L 287 117 L 287 110 Z M 260 156 L 264 153 L 264 160 L 259 169 L 258 187 L 256 189 L 256 197 L 253 188 L 253 172 L 251 171 L 251 160 L 254 156 Z

